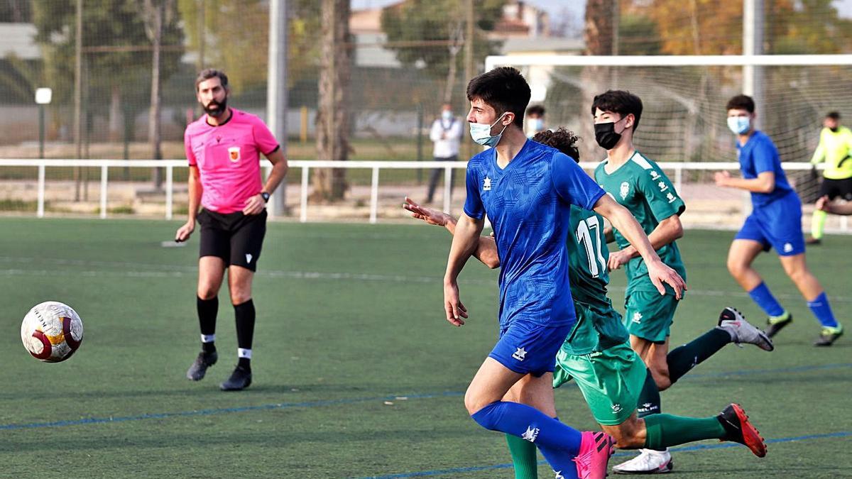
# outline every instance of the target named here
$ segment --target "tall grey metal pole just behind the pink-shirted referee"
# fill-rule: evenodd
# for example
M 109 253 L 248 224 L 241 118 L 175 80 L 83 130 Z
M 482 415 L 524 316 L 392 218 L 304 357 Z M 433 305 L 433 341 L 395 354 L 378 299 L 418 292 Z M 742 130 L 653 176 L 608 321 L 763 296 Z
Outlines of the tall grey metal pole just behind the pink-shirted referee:
M 287 154 L 287 0 L 269 2 L 269 66 L 267 80 L 267 124 Z M 272 211 L 285 215 L 287 182 L 273 193 Z

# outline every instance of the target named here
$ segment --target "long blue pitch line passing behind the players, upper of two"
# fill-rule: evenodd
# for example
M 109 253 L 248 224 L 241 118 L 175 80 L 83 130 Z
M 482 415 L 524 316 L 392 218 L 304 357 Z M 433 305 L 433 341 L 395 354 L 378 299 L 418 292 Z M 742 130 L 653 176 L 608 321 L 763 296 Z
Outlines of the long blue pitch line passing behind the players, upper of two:
M 781 367 L 777 369 L 747 369 L 740 371 L 728 372 L 711 372 L 706 374 L 691 374 L 682 378 L 687 380 L 690 378 L 722 378 L 726 376 L 748 376 L 757 374 L 773 374 L 782 372 L 808 372 L 826 369 L 838 369 L 842 367 L 850 367 L 852 363 L 835 363 L 823 364 L 816 366 L 794 366 Z M 569 383 L 573 384 L 573 383 Z M 187 418 L 193 416 L 212 416 L 216 414 L 227 413 L 248 413 L 252 411 L 268 411 L 273 409 L 294 409 L 294 408 L 309 408 L 309 407 L 327 407 L 327 406 L 342 406 L 347 404 L 358 404 L 361 402 L 374 401 L 400 401 L 400 398 L 406 399 L 434 399 L 440 397 L 458 397 L 464 395 L 463 391 L 445 391 L 440 393 L 412 394 L 412 395 L 386 395 L 377 397 L 356 397 L 349 399 L 331 399 L 321 401 L 303 401 L 303 402 L 279 402 L 274 404 L 262 404 L 260 406 L 242 406 L 242 407 L 222 407 L 217 409 L 199 409 L 194 411 L 179 411 L 176 413 L 146 413 L 135 416 L 111 416 L 107 418 L 80 418 L 65 421 L 51 421 L 43 423 L 26 423 L 26 424 L 0 424 L 0 430 L 22 430 L 22 429 L 37 429 L 51 428 L 62 426 L 74 426 L 82 424 L 106 424 L 106 423 L 124 423 L 127 421 L 141 421 L 145 419 L 168 419 L 168 418 Z

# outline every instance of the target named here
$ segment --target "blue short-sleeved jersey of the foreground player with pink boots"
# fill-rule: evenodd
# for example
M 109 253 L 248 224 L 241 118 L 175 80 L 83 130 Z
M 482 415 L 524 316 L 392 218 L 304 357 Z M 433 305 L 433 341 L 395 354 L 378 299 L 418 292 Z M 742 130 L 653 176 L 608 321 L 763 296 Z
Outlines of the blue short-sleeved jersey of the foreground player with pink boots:
M 527 141 L 504 169 L 497 151 L 470 159 L 464 213 L 487 215 L 500 257 L 500 325 L 573 324 L 565 242 L 571 205 L 591 210 L 605 193 L 556 148 Z

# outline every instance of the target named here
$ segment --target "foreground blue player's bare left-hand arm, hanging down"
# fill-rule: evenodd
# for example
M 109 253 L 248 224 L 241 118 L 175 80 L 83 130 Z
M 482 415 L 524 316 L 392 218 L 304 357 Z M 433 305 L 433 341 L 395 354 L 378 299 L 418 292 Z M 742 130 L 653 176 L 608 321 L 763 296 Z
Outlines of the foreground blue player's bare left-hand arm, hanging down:
M 458 274 L 461 273 L 470 255 L 476 251 L 484 223 L 482 219 L 471 218 L 462 213 L 456 224 L 456 233 L 452 235 L 450 257 L 446 260 L 444 274 L 444 311 L 446 320 L 454 326 L 462 326 L 463 318 L 468 317 L 468 310 L 464 308 L 458 297 Z

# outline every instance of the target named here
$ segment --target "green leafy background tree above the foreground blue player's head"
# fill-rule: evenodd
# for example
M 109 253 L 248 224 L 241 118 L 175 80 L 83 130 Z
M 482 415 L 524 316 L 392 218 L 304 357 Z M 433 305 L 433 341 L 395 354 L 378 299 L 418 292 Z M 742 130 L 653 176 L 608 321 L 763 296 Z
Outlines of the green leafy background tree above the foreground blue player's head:
M 498 53 L 500 42 L 486 38 L 503 17 L 505 0 L 476 2 L 474 58 Z M 382 10 L 382 30 L 388 48 L 408 68 L 420 68 L 433 78 L 446 78 L 443 101 L 452 101 L 456 72 L 463 70 L 459 50 L 464 38 L 464 0 L 408 0 Z

